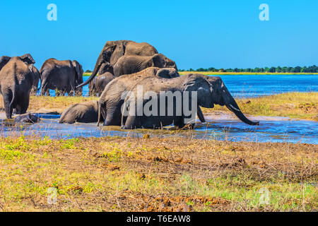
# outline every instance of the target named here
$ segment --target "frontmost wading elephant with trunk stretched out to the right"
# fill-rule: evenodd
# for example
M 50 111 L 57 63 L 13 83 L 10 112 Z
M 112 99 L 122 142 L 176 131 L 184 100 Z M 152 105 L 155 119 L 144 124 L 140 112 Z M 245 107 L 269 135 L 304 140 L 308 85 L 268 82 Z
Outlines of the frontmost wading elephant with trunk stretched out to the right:
M 139 86 L 135 85 L 124 102 L 122 129 L 160 129 L 170 124 L 179 129 L 193 129 L 196 114 L 200 121 L 205 121 L 200 107 L 214 105 L 225 105 L 246 124 L 259 124 L 240 111 L 220 77 L 189 74 L 171 79 L 146 78 Z

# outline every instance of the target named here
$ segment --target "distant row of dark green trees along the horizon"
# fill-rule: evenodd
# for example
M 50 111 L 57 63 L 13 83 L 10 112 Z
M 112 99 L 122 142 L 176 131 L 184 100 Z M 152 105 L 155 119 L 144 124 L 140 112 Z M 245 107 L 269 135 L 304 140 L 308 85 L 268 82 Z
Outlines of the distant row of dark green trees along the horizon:
M 313 65 L 313 66 L 278 66 L 278 67 L 274 67 L 272 66 L 271 68 L 269 67 L 264 67 L 264 68 L 255 68 L 255 69 L 216 69 L 216 68 L 208 68 L 208 69 L 189 69 L 189 70 L 179 70 L 179 71 L 215 71 L 215 72 L 257 72 L 257 73 L 261 73 L 261 72 L 269 72 L 269 73 L 288 73 L 288 72 L 295 72 L 295 73 L 318 73 L 318 66 Z

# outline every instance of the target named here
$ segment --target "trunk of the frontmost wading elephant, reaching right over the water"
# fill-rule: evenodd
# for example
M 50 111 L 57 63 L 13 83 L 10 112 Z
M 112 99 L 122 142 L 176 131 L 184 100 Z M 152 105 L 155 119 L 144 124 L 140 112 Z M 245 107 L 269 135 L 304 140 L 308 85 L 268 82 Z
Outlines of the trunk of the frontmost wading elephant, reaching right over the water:
M 241 112 L 240 107 L 238 107 L 234 98 L 225 86 L 223 87 L 223 100 L 225 106 L 228 107 L 228 109 L 230 109 L 230 111 L 233 112 L 241 121 L 249 125 L 259 125 L 259 121 L 251 121 L 245 117 L 245 115 Z

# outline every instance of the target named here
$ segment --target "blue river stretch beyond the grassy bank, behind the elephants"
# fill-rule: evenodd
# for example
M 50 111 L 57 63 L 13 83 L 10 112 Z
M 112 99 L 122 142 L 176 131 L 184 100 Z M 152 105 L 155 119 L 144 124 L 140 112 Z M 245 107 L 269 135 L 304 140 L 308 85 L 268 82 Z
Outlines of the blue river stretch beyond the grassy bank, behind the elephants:
M 83 81 L 88 78 L 84 76 Z M 234 97 L 318 92 L 318 75 L 223 75 L 220 78 Z M 54 90 L 50 90 L 49 93 L 55 95 Z M 88 85 L 83 88 L 83 95 L 88 95 Z

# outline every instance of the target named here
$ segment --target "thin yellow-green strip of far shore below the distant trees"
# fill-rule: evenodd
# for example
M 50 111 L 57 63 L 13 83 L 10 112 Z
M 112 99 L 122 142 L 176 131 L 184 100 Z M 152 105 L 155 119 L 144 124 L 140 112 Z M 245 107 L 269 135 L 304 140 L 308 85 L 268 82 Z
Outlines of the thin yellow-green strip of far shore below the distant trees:
M 220 75 L 318 75 L 318 73 L 291 73 L 291 72 L 216 72 L 216 71 L 179 71 L 181 76 L 187 75 L 188 73 L 201 73 L 204 75 L 220 76 Z M 83 76 L 90 76 L 92 73 L 83 73 Z

